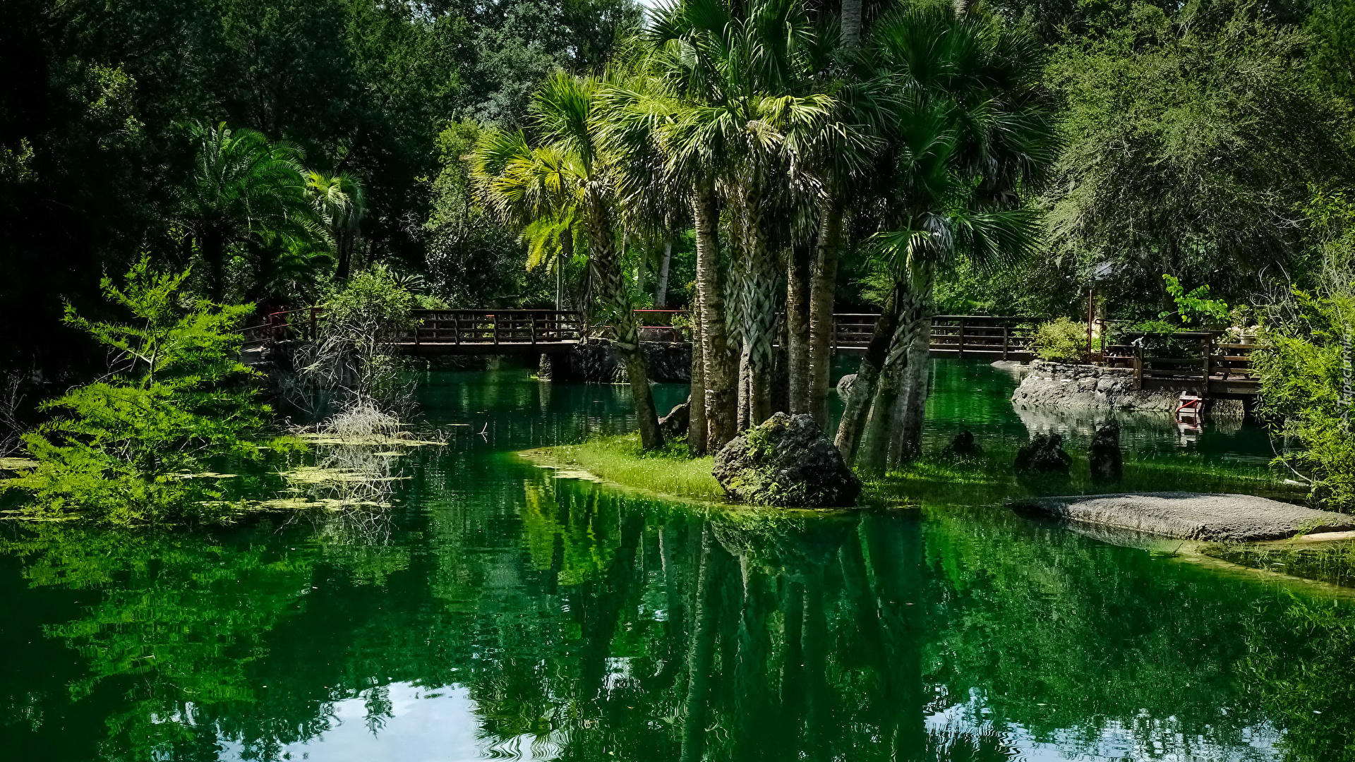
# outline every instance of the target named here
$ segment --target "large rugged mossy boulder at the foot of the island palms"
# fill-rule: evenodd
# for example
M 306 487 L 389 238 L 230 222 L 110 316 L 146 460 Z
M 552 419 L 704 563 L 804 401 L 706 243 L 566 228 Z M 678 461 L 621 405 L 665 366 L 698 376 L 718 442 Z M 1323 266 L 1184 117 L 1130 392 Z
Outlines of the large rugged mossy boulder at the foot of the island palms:
M 778 412 L 715 456 L 715 480 L 733 500 L 759 506 L 855 506 L 860 480 L 813 416 Z

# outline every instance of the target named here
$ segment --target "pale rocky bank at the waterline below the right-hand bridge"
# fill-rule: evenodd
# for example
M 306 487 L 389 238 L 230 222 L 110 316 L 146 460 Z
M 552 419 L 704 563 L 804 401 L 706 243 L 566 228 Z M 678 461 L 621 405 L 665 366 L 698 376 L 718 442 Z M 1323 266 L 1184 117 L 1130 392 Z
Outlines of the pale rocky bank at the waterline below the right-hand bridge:
M 1020 385 L 1012 393 L 1012 404 L 1027 407 L 1061 407 L 1122 411 L 1176 409 L 1180 392 L 1134 389 L 1134 370 L 1130 367 L 1100 367 L 1095 365 L 1066 365 L 1033 361 Z M 1214 400 L 1210 415 L 1244 415 L 1238 400 Z

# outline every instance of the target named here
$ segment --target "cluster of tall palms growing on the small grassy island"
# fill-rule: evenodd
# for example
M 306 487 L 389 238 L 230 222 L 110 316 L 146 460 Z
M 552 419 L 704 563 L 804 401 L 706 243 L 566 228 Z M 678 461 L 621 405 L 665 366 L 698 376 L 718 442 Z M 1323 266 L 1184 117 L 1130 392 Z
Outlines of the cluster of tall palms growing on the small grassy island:
M 476 148 L 488 209 L 550 251 L 580 233 L 645 447 L 663 439 L 622 230 L 695 230 L 694 454 L 776 407 L 828 423 L 837 263 L 870 256 L 888 293 L 836 439 L 867 468 L 917 450 L 938 270 L 1037 240 L 1020 195 L 1054 148 L 1038 47 L 963 7 L 871 8 L 864 24 L 848 5 L 678 0 L 604 73 L 551 77 L 526 130 Z

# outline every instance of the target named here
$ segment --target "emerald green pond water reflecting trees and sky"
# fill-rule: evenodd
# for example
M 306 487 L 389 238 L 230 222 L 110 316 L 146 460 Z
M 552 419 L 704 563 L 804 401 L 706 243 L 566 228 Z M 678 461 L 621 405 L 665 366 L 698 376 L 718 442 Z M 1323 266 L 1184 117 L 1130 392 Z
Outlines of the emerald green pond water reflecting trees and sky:
M 928 441 L 1026 426 L 938 363 Z M 660 386 L 660 404 L 684 389 Z M 625 430 L 623 386 L 430 374 L 388 521 L 0 530 L 0 759 L 1355 758 L 1327 590 L 965 504 L 703 517 L 511 453 Z M 482 433 L 482 434 L 477 434 Z M 1253 462 L 1169 420 L 1134 457 Z

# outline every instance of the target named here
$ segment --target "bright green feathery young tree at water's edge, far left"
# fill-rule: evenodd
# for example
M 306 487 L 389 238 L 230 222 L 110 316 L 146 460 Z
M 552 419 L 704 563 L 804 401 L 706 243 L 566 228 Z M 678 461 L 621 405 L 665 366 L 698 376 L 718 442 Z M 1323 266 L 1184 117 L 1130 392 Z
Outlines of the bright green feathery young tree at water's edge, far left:
M 23 438 L 38 465 L 3 484 L 30 495 L 26 513 L 112 523 L 201 518 L 222 492 L 196 475 L 218 458 L 259 460 L 270 445 L 270 409 L 240 365 L 236 332 L 253 308 L 191 300 L 182 293 L 187 278 L 142 259 L 123 287 L 103 279 L 126 321 L 68 310 L 70 325 L 112 353 L 112 373 L 42 405 L 58 415 Z

